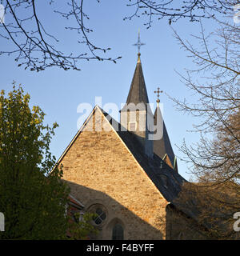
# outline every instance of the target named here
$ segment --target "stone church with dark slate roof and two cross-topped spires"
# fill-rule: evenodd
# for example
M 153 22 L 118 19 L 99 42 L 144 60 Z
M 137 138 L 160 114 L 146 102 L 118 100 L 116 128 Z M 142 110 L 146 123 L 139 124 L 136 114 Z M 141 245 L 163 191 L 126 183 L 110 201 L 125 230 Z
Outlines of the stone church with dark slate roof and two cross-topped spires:
M 156 134 L 150 126 L 156 125 L 162 114 L 159 99 L 154 114 L 148 110 L 148 103 L 138 52 L 120 122 L 94 106 L 58 160 L 70 193 L 86 212 L 96 214 L 94 225 L 99 232 L 93 239 L 161 240 L 186 236 L 174 230 L 171 222 L 177 210 L 174 198 L 186 180 L 178 174 L 164 122 L 157 130 L 160 138 L 150 139 Z

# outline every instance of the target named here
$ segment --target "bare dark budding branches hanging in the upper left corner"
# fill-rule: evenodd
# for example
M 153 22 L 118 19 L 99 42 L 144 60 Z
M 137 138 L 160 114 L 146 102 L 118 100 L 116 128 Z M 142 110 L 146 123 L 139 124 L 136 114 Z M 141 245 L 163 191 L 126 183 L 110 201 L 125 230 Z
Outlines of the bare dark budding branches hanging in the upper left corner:
M 86 52 L 75 55 L 59 50 L 57 37 L 46 32 L 46 27 L 42 25 L 38 15 L 40 2 L 38 6 L 35 0 L 6 0 L 4 2 L 6 15 L 8 20 L 10 17 L 11 20 L 0 24 L 0 35 L 14 43 L 14 50 L 1 49 L 0 54 L 14 54 L 17 56 L 15 61 L 18 62 L 18 66 L 36 71 L 45 70 L 50 66 L 58 66 L 63 70 L 80 70 L 78 62 L 82 60 L 116 62 L 121 58 L 102 57 L 101 52 L 105 54 L 110 48 L 94 46 L 94 43 L 90 42 L 87 34 L 92 30 L 85 26 L 85 19 L 88 19 L 88 16 L 83 11 L 83 0 L 80 1 L 80 5 L 74 0 L 68 2 L 69 12 L 66 14 L 55 11 L 55 13 L 62 14 L 64 18 L 70 18 L 70 16 L 75 18 L 76 27 L 66 27 L 66 29 L 77 30 L 77 35 L 80 35 L 83 41 L 76 39 L 76 42 L 82 46 L 86 45 Z M 50 1 L 50 4 L 53 3 L 54 1 Z

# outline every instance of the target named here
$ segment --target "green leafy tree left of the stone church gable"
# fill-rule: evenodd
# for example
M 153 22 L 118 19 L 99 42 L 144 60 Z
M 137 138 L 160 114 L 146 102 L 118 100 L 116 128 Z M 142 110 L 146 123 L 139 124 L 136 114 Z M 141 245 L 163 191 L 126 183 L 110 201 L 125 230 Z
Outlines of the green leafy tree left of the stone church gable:
M 0 96 L 0 210 L 5 214 L 2 239 L 66 238 L 69 190 L 50 153 L 52 127 L 43 124 L 30 95 L 15 86 Z

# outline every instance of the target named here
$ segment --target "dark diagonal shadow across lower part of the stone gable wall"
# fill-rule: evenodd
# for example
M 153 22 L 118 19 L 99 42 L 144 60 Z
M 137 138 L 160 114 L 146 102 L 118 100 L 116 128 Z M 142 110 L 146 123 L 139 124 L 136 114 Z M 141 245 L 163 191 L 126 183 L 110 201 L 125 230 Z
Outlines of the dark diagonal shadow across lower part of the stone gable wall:
M 108 194 L 74 182 L 63 181 L 70 186 L 70 193 L 83 203 L 86 211 L 94 210 L 98 206 L 102 206 L 102 209 L 106 211 L 106 219 L 98 226 L 98 235 L 91 239 L 111 240 L 116 223 L 120 223 L 123 227 L 124 240 L 162 240 L 165 237 L 163 235 L 165 225 L 160 226 L 158 230 Z M 122 190 L 124 190 L 124 187 L 122 187 Z M 144 206 L 142 206 L 142 210 L 147 211 Z

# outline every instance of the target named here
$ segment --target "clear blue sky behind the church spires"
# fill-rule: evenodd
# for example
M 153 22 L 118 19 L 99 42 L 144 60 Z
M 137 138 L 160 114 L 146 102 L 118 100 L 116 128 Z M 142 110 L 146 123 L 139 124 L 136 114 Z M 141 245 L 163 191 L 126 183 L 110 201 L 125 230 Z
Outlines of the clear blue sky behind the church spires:
M 54 8 L 54 5 L 38 3 L 39 17 L 49 28 L 48 31 L 62 40 L 59 43 L 62 50 L 69 53 L 81 51 L 81 46 L 75 43 L 79 38 L 73 32 L 64 32 L 62 27 L 66 26 L 66 21 L 63 19 L 59 22 L 57 14 L 51 14 L 50 8 Z M 64 9 L 63 4 L 62 8 Z M 126 14 L 134 11 L 126 7 L 126 1 L 102 1 L 99 4 L 96 1 L 87 1 L 85 8 L 86 13 L 90 15 L 90 28 L 94 30 L 90 38 L 97 46 L 112 49 L 107 56 L 122 56 L 117 64 L 82 61 L 81 71 L 49 68 L 36 73 L 18 67 L 14 62 L 14 55 L 0 56 L 0 89 L 11 90 L 13 80 L 22 83 L 25 92 L 31 96 L 31 105 L 40 106 L 46 113 L 46 123 L 58 122 L 59 127 L 51 142 L 51 150 L 56 158 L 59 158 L 78 131 L 77 121 L 81 114 L 77 113 L 77 107 L 80 103 L 89 102 L 94 107 L 95 96 L 102 96 L 103 106 L 114 102 L 120 108 L 121 103 L 126 102 L 137 63 L 138 49 L 132 45 L 137 42 L 140 29 L 141 40 L 146 43 L 141 48 L 141 59 L 148 96 L 150 102 L 155 105 L 154 90 L 159 86 L 164 91 L 165 94 L 160 97 L 164 106 L 163 118 L 174 153 L 182 157 L 177 146 L 181 146 L 183 138 L 186 138 L 188 143 L 198 140 L 197 134 L 187 132 L 192 129 L 196 120 L 178 112 L 174 102 L 166 94 L 191 100 L 190 92 L 180 82 L 180 77 L 174 70 L 184 74 L 186 68 L 195 66 L 191 59 L 187 58 L 186 52 L 180 49 L 167 20 L 156 20 L 153 26 L 146 30 L 143 25 L 146 22 L 144 18 L 123 21 Z M 207 30 L 214 30 L 214 23 L 208 20 L 206 24 Z M 189 22 L 188 19 L 180 20 L 172 26 L 182 38 L 189 40 L 190 34 L 198 34 L 200 30 L 198 22 Z M 0 38 L 0 49 L 9 48 L 10 43 Z M 184 178 L 190 178 L 186 163 L 179 159 L 178 170 Z

